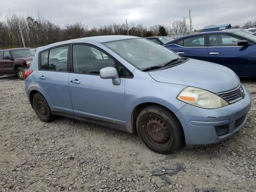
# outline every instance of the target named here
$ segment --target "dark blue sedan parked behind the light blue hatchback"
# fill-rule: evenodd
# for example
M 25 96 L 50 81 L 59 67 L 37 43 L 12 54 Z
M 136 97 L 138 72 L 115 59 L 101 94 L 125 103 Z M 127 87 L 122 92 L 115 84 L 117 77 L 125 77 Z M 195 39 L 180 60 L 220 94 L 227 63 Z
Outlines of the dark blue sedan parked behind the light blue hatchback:
M 227 66 L 240 77 L 256 77 L 256 36 L 244 30 L 202 32 L 163 46 L 184 57 Z

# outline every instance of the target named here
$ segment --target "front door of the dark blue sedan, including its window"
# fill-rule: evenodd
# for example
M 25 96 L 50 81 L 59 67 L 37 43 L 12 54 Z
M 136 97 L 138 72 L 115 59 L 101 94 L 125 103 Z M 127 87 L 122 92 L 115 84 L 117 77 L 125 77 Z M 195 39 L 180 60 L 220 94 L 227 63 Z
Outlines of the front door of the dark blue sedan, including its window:
M 238 46 L 242 39 L 229 34 L 209 34 L 207 39 L 210 62 L 224 65 L 238 76 L 255 75 L 255 45 Z

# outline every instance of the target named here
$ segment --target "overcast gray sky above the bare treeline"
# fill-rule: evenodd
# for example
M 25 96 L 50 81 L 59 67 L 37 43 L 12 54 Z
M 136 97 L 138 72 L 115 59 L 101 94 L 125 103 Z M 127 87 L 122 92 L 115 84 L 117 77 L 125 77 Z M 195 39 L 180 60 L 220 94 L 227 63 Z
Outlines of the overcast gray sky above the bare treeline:
M 256 0 L 6 0 L 0 6 L 4 20 L 10 11 L 36 16 L 64 26 L 82 22 L 89 27 L 113 22 L 142 23 L 144 26 L 170 24 L 186 17 L 191 9 L 193 29 L 210 24 L 241 25 L 256 20 Z

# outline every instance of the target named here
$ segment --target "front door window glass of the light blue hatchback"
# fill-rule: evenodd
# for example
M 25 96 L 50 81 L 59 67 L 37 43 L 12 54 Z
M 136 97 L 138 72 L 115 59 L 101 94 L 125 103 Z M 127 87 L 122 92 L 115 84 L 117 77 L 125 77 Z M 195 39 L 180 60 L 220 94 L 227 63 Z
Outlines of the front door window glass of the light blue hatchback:
M 104 52 L 88 45 L 73 46 L 74 72 L 100 74 L 105 67 L 115 67 L 115 62 Z

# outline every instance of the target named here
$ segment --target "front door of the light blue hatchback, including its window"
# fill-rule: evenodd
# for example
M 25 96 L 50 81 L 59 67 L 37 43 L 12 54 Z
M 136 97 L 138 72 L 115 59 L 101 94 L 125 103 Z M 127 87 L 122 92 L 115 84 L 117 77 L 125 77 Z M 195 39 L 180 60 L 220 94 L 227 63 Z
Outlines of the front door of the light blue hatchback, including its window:
M 74 44 L 72 62 L 69 87 L 74 114 L 125 126 L 125 79 L 116 86 L 99 75 L 100 69 L 116 66 L 114 58 L 95 46 Z

